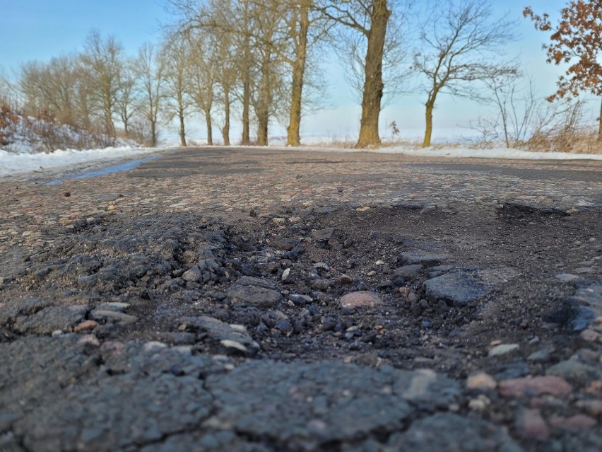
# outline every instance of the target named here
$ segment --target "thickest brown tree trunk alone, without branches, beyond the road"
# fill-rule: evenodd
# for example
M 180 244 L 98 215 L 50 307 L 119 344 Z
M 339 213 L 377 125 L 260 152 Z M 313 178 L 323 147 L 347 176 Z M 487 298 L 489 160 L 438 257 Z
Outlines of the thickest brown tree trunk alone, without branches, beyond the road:
M 378 120 L 384 90 L 382 58 L 386 38 L 386 25 L 389 22 L 390 16 L 391 11 L 387 8 L 386 0 L 374 0 L 371 13 L 372 26 L 367 36 L 366 78 L 362 99 L 360 139 L 358 139 L 358 144 L 355 145 L 356 148 L 378 146 L 380 144 Z

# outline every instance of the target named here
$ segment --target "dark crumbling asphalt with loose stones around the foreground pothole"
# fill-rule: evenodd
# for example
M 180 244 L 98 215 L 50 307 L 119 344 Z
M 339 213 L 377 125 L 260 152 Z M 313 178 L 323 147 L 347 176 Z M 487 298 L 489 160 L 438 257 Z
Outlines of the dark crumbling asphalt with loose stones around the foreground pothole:
M 48 228 L 0 273 L 0 446 L 596 448 L 600 231 L 515 205 Z

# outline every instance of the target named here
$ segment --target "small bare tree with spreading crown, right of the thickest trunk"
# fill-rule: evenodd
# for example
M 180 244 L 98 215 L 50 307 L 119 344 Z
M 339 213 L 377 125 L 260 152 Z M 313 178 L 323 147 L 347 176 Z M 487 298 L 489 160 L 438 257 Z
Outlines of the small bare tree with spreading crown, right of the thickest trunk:
M 443 0 L 429 8 L 432 15 L 420 27 L 423 49 L 414 58 L 427 93 L 423 147 L 430 146 L 432 113 L 439 94 L 478 99 L 476 81 L 516 71 L 511 65 L 495 62 L 513 38 L 514 23 L 506 17 L 493 18 L 488 0 Z

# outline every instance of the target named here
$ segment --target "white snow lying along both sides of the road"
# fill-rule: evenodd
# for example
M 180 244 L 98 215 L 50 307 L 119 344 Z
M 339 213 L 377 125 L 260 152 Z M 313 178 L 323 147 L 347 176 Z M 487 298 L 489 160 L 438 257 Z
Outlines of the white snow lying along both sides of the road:
M 195 144 L 199 141 L 193 141 Z M 278 146 L 274 140 L 273 149 L 287 149 Z M 165 149 L 177 147 L 176 143 L 165 145 Z M 319 146 L 303 146 L 300 151 L 317 151 L 324 153 L 338 152 L 374 152 L 374 153 L 401 153 L 408 156 L 432 156 L 447 158 L 502 158 L 522 160 L 602 160 L 602 154 L 560 153 L 560 152 L 529 152 L 517 149 L 470 149 L 468 147 L 454 146 L 441 149 L 416 149 L 411 146 L 387 146 L 374 150 L 329 148 Z M 52 153 L 10 153 L 0 150 L 0 177 L 17 175 L 30 172 L 41 172 L 50 169 L 77 167 L 82 163 L 104 163 L 115 160 L 137 158 L 148 153 L 160 153 L 161 149 L 134 148 L 123 146 L 106 149 L 88 149 L 85 151 L 58 150 Z

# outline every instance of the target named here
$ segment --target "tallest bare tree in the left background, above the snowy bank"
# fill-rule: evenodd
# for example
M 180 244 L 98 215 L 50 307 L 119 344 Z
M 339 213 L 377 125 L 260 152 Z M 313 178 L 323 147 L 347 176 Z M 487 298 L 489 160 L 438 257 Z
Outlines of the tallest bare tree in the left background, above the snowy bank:
M 102 39 L 98 30 L 90 32 L 85 40 L 81 60 L 92 77 L 93 101 L 105 120 L 105 132 L 115 137 L 113 115 L 121 87 L 123 48 L 115 37 Z

